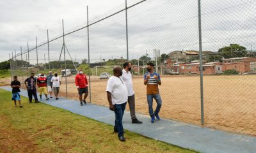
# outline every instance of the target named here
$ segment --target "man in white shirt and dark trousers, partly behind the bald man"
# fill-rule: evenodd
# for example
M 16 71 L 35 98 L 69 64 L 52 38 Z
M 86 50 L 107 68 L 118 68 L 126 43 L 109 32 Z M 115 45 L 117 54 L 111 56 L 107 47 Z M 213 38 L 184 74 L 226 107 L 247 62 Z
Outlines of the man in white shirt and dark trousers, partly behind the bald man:
M 142 122 L 137 119 L 135 114 L 135 96 L 134 96 L 133 85 L 132 85 L 132 75 L 130 72 L 132 69 L 132 64 L 131 62 L 125 62 L 123 66 L 124 66 L 124 69 L 123 69 L 123 74 L 121 78 L 124 80 L 125 85 L 127 87 L 127 91 L 128 91 L 128 104 L 130 108 L 132 123 L 141 124 Z

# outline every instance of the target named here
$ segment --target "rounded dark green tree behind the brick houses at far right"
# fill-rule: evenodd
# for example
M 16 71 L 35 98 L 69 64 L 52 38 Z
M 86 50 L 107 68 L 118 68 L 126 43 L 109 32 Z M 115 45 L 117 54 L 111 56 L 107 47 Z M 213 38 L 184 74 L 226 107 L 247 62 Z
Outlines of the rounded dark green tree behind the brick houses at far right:
M 228 47 L 222 47 L 218 52 L 220 52 L 221 56 L 225 59 L 247 56 L 246 48 L 238 44 L 230 44 Z

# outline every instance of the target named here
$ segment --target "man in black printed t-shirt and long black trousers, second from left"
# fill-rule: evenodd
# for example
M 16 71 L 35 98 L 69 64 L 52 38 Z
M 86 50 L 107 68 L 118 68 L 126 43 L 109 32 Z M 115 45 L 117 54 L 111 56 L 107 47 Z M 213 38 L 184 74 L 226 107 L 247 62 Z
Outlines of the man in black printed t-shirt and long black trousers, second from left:
M 32 103 L 32 98 L 34 96 L 35 102 L 38 103 L 37 94 L 36 94 L 36 78 L 34 78 L 34 73 L 30 74 L 30 77 L 24 81 L 26 88 L 28 89 L 28 98 L 29 103 Z M 28 82 L 28 85 L 27 85 Z

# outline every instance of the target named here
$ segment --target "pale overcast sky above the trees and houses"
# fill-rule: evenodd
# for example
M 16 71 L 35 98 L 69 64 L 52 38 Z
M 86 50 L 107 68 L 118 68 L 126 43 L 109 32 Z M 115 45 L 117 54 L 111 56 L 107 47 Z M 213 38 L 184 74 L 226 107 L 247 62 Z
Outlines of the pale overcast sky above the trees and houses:
M 140 0 L 128 0 L 128 6 Z M 0 1 L 0 61 L 8 59 L 14 49 L 20 52 L 35 47 L 62 34 L 86 25 L 86 6 L 90 23 L 122 10 L 120 0 L 13 0 Z M 218 51 L 230 43 L 239 43 L 254 50 L 256 36 L 256 1 L 202 1 L 203 50 Z M 146 53 L 153 57 L 153 49 L 161 54 L 174 50 L 198 50 L 197 0 L 147 0 L 128 10 L 129 59 Z M 125 11 L 90 26 L 90 57 L 101 59 L 126 58 Z M 63 39 L 49 43 L 51 61 L 58 61 Z M 87 29 L 65 37 L 71 57 L 81 62 L 88 59 Z M 38 62 L 48 59 L 47 45 L 38 48 Z M 70 59 L 69 55 L 66 55 Z M 20 57 L 19 57 L 20 58 Z M 26 54 L 23 55 L 26 59 Z M 29 52 L 31 63 L 36 62 L 36 50 Z M 61 55 L 63 59 L 63 54 Z

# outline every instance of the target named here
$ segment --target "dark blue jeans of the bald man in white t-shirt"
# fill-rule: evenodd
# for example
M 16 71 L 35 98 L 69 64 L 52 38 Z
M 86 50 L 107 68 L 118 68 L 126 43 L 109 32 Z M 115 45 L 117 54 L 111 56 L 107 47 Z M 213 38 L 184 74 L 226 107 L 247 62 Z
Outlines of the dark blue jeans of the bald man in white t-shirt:
M 123 121 L 123 115 L 124 115 L 126 103 L 127 102 L 114 105 L 115 106 L 115 115 L 116 115 L 115 126 L 118 130 L 118 137 L 124 136 L 124 129 L 123 129 L 122 121 Z

